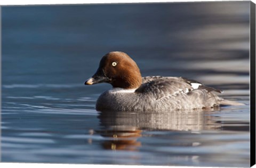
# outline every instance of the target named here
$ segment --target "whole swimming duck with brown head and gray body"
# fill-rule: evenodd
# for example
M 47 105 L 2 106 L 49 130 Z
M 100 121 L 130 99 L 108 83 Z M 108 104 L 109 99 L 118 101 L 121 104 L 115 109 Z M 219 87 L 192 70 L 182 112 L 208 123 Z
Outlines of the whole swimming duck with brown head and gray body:
M 98 111 L 166 111 L 244 105 L 220 98 L 214 92 L 222 93 L 222 90 L 193 79 L 142 77 L 137 63 L 121 51 L 104 55 L 95 74 L 84 84 L 99 83 L 109 83 L 113 88 L 99 96 L 95 107 Z

